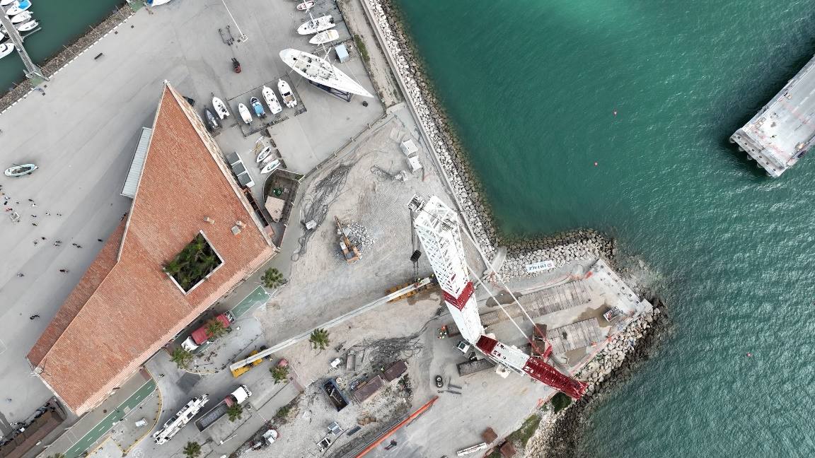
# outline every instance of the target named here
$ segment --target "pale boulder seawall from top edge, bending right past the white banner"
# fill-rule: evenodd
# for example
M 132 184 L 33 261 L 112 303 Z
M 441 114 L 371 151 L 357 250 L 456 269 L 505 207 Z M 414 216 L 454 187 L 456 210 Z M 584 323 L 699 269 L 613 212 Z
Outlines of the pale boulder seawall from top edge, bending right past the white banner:
M 459 210 L 474 240 L 487 258 L 493 258 L 500 245 L 507 256 L 500 268 L 504 278 L 516 278 L 528 273 L 526 266 L 535 262 L 552 261 L 563 266 L 575 259 L 603 257 L 611 261 L 614 243 L 593 230 L 569 231 L 555 236 L 512 240 L 495 227 L 489 203 L 484 199 L 482 185 L 475 177 L 456 137 L 452 123 L 434 95 L 422 60 L 418 57 L 409 34 L 390 0 L 359 0 L 368 12 L 368 19 L 377 31 L 381 45 L 389 57 L 405 98 L 418 117 L 429 147 L 455 194 Z

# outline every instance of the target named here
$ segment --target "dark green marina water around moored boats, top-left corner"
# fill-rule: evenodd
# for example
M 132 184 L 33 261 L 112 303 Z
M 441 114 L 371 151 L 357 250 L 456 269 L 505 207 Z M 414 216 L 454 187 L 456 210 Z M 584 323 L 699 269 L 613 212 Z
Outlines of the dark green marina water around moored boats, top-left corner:
M 81 37 L 88 27 L 108 16 L 123 0 L 32 0 L 29 11 L 39 21 L 39 32 L 25 38 L 25 49 L 37 64 Z M 5 42 L 11 42 L 7 40 Z M 4 42 L 4 43 L 5 43 Z M 23 61 L 16 52 L 0 59 L 0 93 L 25 78 Z

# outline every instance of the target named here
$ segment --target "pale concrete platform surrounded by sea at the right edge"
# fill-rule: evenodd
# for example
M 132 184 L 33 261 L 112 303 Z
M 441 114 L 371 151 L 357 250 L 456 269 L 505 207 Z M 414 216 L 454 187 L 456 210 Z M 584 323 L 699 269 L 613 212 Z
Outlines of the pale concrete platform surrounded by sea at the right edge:
M 815 58 L 810 60 L 764 108 L 730 136 L 740 151 L 781 176 L 815 141 Z

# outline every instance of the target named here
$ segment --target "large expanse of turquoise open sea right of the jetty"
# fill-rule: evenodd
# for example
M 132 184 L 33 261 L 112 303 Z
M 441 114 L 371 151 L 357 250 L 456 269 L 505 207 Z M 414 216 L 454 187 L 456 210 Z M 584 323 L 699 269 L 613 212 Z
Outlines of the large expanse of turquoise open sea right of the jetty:
M 499 226 L 660 274 L 672 338 L 582 452 L 815 456 L 815 156 L 771 179 L 727 141 L 815 54 L 815 1 L 398 2 Z

